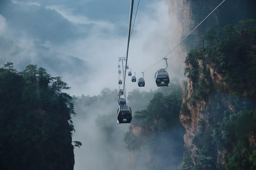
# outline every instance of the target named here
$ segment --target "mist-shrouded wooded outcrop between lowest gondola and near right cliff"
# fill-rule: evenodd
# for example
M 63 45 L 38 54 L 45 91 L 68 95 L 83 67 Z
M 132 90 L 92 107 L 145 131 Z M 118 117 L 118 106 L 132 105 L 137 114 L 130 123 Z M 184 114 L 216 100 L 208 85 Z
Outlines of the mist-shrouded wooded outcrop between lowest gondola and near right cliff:
M 180 124 L 179 112 L 183 89 L 174 78 L 170 87 L 161 90 L 165 93 L 154 92 L 148 106 L 135 112 L 129 131 L 125 133 L 133 169 L 176 169 L 181 163 L 185 130 Z

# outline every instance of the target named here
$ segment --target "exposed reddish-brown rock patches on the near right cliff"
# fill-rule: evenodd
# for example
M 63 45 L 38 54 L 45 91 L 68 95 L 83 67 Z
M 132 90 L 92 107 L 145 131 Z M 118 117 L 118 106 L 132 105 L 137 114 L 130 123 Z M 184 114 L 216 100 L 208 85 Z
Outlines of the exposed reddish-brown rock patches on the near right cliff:
M 208 79 L 206 78 L 204 73 L 199 73 L 199 79 L 203 82 L 209 82 L 218 84 L 222 87 L 225 87 L 226 82 L 223 82 L 223 76 L 220 73 L 216 72 L 216 68 L 214 67 L 214 63 L 205 62 L 203 59 L 196 59 L 195 62 L 197 63 L 197 68 L 202 69 L 204 72 L 207 72 L 210 77 Z M 195 69 L 193 65 L 187 61 L 186 62 L 187 68 L 193 70 Z M 198 92 L 199 89 L 195 87 L 194 82 L 196 80 L 193 80 L 190 76 L 188 76 L 187 79 L 187 92 L 185 97 L 183 98 L 182 107 L 183 110 L 180 113 L 180 120 L 182 125 L 186 129 L 186 133 L 183 137 L 185 145 L 184 145 L 184 157 L 189 156 L 192 160 L 194 165 L 201 163 L 200 155 L 197 154 L 199 151 L 199 148 L 197 145 L 195 145 L 195 142 L 193 143 L 193 139 L 195 139 L 195 136 L 201 131 L 202 125 L 201 122 L 205 122 L 204 128 L 207 128 L 207 131 L 211 132 L 213 130 L 212 124 L 216 122 L 211 122 L 211 113 L 210 112 L 204 112 L 206 109 L 206 106 L 208 104 L 211 104 L 211 100 L 213 100 L 210 96 L 207 98 L 202 99 L 194 99 L 195 92 Z M 222 89 L 216 89 L 220 92 L 220 95 L 223 95 Z M 193 100 L 193 101 L 192 101 Z M 230 104 L 227 101 L 222 101 L 223 105 L 225 105 L 228 109 L 232 111 L 232 107 L 230 107 Z M 206 143 L 207 145 L 207 143 Z M 217 153 L 215 153 L 215 158 L 217 157 L 217 162 L 221 164 L 221 166 L 225 165 L 225 155 L 226 155 L 226 149 L 225 148 L 218 148 Z M 212 157 L 208 157 L 207 159 L 212 160 Z

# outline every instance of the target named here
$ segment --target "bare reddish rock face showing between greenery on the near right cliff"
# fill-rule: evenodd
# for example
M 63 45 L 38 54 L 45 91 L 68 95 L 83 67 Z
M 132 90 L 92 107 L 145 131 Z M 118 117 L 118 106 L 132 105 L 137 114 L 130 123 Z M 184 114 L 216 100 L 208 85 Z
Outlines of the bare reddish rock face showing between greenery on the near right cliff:
M 222 80 L 222 75 L 216 72 L 216 68 L 214 67 L 214 64 L 207 63 L 206 61 L 202 59 L 197 59 L 197 64 L 199 68 L 204 69 L 210 74 L 211 81 L 216 84 L 225 84 Z M 186 63 L 187 67 L 190 69 L 192 68 L 190 63 Z M 199 75 L 200 79 L 203 79 L 204 81 L 209 81 L 205 78 L 205 75 L 201 73 Z M 183 105 L 187 107 L 189 110 L 189 114 L 185 112 L 180 112 L 180 120 L 182 125 L 186 129 L 186 133 L 184 135 L 184 156 L 190 156 L 193 160 L 194 164 L 201 164 L 199 161 L 199 156 L 197 155 L 196 151 L 198 150 L 197 146 L 192 143 L 196 133 L 199 131 L 199 121 L 203 120 L 206 122 L 206 127 L 209 131 L 212 131 L 212 125 L 209 123 L 210 113 L 209 112 L 202 112 L 205 110 L 207 104 L 211 103 L 211 98 L 205 100 L 196 100 L 194 104 L 191 104 L 187 102 L 187 100 L 195 93 L 198 89 L 193 87 L 193 81 L 188 76 L 187 79 L 187 93 L 185 97 L 183 98 Z M 222 90 L 220 90 L 222 91 Z M 229 105 L 228 101 L 223 101 L 223 103 L 226 103 L 227 107 Z M 230 107 L 230 110 L 232 108 Z M 193 146 L 193 147 L 192 147 Z M 217 163 L 220 164 L 220 167 L 225 165 L 225 156 L 227 153 L 226 148 L 217 148 Z M 211 158 L 209 158 L 211 159 Z

